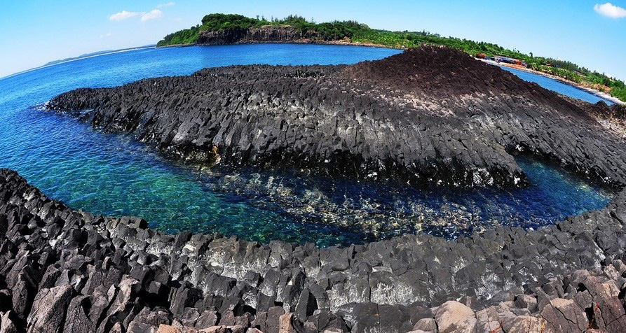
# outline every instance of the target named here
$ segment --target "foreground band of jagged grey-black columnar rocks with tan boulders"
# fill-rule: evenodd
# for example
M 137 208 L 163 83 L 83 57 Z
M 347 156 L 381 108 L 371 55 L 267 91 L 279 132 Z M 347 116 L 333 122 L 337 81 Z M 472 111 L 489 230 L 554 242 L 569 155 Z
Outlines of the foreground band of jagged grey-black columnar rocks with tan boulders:
M 626 191 L 536 231 L 347 248 L 167 235 L 0 170 L 0 332 L 622 332 Z

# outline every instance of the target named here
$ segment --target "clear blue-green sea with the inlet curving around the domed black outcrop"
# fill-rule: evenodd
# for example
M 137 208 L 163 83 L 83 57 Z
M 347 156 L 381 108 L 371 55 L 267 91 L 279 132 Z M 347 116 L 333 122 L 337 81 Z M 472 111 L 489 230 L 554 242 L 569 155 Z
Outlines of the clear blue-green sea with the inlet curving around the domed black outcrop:
M 557 167 L 519 163 L 531 187 L 412 188 L 299 171 L 197 169 L 163 160 L 129 136 L 102 134 L 41 110 L 77 87 L 186 75 L 229 64 L 340 64 L 399 51 L 338 45 L 233 45 L 144 49 L 80 59 L 0 79 L 0 167 L 48 196 L 104 215 L 136 215 L 168 232 L 220 232 L 320 246 L 403 232 L 454 238 L 491 225 L 539 227 L 606 205 L 611 192 Z

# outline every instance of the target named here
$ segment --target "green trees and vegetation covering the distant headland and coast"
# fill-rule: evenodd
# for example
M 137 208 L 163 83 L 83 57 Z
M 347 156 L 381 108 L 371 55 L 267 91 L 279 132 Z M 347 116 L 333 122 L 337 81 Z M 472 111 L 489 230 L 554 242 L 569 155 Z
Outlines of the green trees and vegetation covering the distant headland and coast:
M 494 43 L 470 41 L 467 39 L 442 37 L 439 34 L 431 34 L 428 31 L 386 31 L 371 29 L 366 24 L 356 21 L 333 21 L 315 23 L 313 19 L 306 20 L 298 15 L 290 15 L 283 19 L 272 17 L 250 18 L 237 14 L 209 14 L 202 19 L 202 24 L 189 29 L 182 29 L 168 34 L 157 46 L 189 45 L 198 41 L 200 31 L 227 31 L 243 30 L 253 27 L 269 25 L 288 25 L 303 33 L 311 32 L 320 42 L 346 41 L 350 43 L 363 43 L 381 45 L 388 48 L 414 48 L 419 45 L 444 45 L 469 53 L 470 55 L 484 55 L 486 57 L 510 57 L 524 62 L 529 69 L 549 73 L 559 78 L 581 83 L 588 86 L 599 87 L 608 91 L 613 97 L 626 101 L 626 86 L 621 80 L 606 76 L 604 73 L 590 71 L 585 67 L 578 66 L 550 57 L 535 57 L 531 53 L 526 55 L 517 50 L 508 50 Z

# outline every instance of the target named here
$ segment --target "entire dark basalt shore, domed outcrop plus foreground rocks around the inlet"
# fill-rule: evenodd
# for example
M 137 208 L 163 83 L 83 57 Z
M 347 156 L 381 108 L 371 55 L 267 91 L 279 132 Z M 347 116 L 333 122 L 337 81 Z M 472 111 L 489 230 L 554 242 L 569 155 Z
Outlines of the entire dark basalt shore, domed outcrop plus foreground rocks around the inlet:
M 51 110 L 204 164 L 519 186 L 522 151 L 626 184 L 619 106 L 445 48 L 353 66 L 229 66 L 56 97 Z M 0 332 L 622 332 L 626 190 L 537 230 L 317 248 L 168 235 L 0 169 Z

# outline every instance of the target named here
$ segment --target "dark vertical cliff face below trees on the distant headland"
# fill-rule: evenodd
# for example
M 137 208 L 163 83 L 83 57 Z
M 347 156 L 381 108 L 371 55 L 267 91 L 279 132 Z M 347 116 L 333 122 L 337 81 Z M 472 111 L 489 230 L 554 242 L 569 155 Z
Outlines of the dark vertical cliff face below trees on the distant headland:
M 198 44 L 306 43 L 317 36 L 317 33 L 311 31 L 303 33 L 294 27 L 272 25 L 250 29 L 200 31 Z

